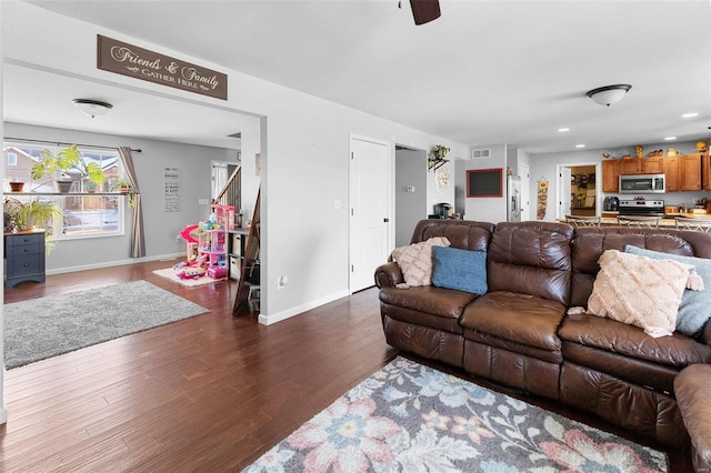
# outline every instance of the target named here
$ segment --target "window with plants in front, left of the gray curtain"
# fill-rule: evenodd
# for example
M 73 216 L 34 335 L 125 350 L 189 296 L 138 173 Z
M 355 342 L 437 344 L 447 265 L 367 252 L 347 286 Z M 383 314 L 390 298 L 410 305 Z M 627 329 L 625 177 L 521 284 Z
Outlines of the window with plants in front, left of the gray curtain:
M 30 143 L 4 143 L 3 175 L 6 177 L 6 195 L 9 181 L 24 182 L 24 192 L 13 194 L 19 200 L 54 200 L 62 210 L 62 219 L 54 221 L 54 239 L 72 240 L 81 238 L 114 236 L 123 234 L 123 215 L 126 198 L 113 194 L 111 183 L 123 173 L 123 165 L 118 151 L 80 148 L 81 157 L 87 162 L 96 163 L 106 174 L 106 181 L 96 185 L 88 178 L 76 172 L 62 172 L 70 177 L 72 184 L 69 193 L 58 195 L 54 182 L 48 177 L 34 181 L 31 169 L 41 158 L 42 151 L 49 149 L 58 152 L 61 147 L 41 147 Z M 16 155 L 14 168 L 10 168 L 10 154 Z M 30 195 L 30 193 L 34 195 Z

